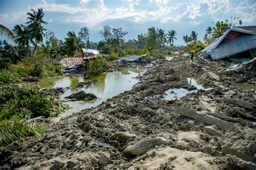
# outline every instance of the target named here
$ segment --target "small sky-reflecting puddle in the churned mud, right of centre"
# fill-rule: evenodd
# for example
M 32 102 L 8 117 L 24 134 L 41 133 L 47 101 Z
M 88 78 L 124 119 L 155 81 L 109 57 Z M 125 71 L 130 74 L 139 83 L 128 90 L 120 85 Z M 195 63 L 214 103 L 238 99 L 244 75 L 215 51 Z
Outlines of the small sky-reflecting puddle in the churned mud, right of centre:
M 177 100 L 180 100 L 181 97 L 186 96 L 187 94 L 197 92 L 200 89 L 204 89 L 204 87 L 201 86 L 199 82 L 193 79 L 192 77 L 187 78 L 187 83 L 190 84 L 191 86 L 196 87 L 197 89 L 189 91 L 184 88 L 171 88 L 165 91 L 166 96 L 164 97 L 164 99 L 177 97 Z

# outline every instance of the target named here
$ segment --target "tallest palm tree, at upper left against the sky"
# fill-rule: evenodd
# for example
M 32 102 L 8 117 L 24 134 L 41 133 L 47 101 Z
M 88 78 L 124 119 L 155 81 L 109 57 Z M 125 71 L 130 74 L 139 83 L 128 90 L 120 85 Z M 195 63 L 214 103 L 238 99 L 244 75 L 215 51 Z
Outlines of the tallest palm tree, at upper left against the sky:
M 45 31 L 44 27 L 41 24 L 47 24 L 44 22 L 44 12 L 43 9 L 37 9 L 37 11 L 31 9 L 32 12 L 26 13 L 28 15 L 29 21 L 26 22 L 26 24 L 29 24 L 29 28 L 31 29 L 31 39 L 35 40 L 35 48 L 33 50 L 33 53 L 36 51 L 37 43 L 43 41 L 43 36 Z

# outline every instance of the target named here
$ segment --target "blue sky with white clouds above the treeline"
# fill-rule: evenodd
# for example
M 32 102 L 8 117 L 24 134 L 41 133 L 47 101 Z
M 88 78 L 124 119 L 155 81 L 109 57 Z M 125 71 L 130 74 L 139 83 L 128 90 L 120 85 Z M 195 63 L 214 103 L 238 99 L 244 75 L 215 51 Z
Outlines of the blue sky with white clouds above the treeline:
M 105 25 L 123 27 L 125 40 L 137 39 L 152 26 L 176 30 L 174 45 L 184 45 L 183 36 L 191 31 L 202 40 L 208 26 L 231 16 L 240 17 L 242 26 L 256 25 L 255 0 L 0 0 L 0 24 L 13 29 L 26 22 L 26 12 L 38 8 L 48 22 L 44 27 L 58 39 L 86 26 L 93 42 L 102 39 L 99 31 Z

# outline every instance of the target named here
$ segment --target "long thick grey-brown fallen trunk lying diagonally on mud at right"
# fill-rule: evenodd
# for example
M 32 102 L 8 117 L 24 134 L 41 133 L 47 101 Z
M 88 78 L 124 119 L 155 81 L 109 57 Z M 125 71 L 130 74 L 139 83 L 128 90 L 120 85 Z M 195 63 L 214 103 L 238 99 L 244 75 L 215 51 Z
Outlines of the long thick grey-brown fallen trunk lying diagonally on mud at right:
M 239 129 L 232 122 L 223 121 L 217 117 L 213 117 L 201 112 L 197 112 L 190 108 L 179 108 L 178 113 L 183 116 L 191 117 L 197 121 L 204 122 L 208 125 L 216 125 L 219 129 L 231 132 L 238 132 Z

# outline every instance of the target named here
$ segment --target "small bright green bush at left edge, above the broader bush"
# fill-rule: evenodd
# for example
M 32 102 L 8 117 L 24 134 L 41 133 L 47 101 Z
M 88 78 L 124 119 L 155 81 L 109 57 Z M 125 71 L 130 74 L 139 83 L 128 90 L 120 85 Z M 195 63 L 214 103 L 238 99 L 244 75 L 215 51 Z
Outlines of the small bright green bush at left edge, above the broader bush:
M 0 85 L 21 82 L 17 73 L 10 73 L 7 70 L 0 69 Z

